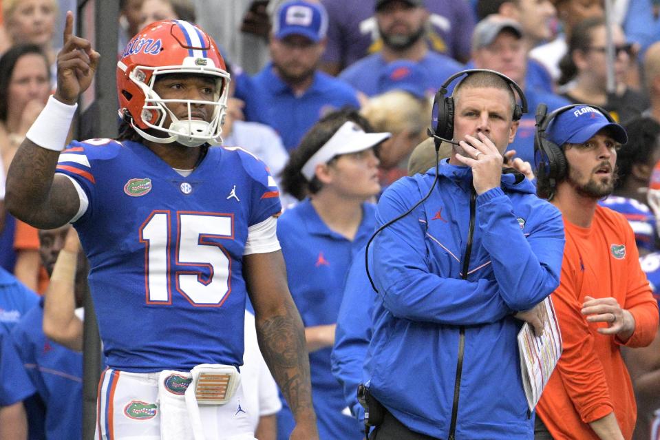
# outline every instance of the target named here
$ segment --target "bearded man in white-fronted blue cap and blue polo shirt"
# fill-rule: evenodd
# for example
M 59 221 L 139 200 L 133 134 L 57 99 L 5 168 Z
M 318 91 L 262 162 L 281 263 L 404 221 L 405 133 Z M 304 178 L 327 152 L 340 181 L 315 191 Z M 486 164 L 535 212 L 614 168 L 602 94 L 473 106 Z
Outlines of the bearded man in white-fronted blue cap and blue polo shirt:
M 275 129 L 288 151 L 323 114 L 359 107 L 356 90 L 318 70 L 327 30 L 328 16 L 320 3 L 283 3 L 273 17 L 272 61 L 253 77 L 264 103 L 259 119 Z

